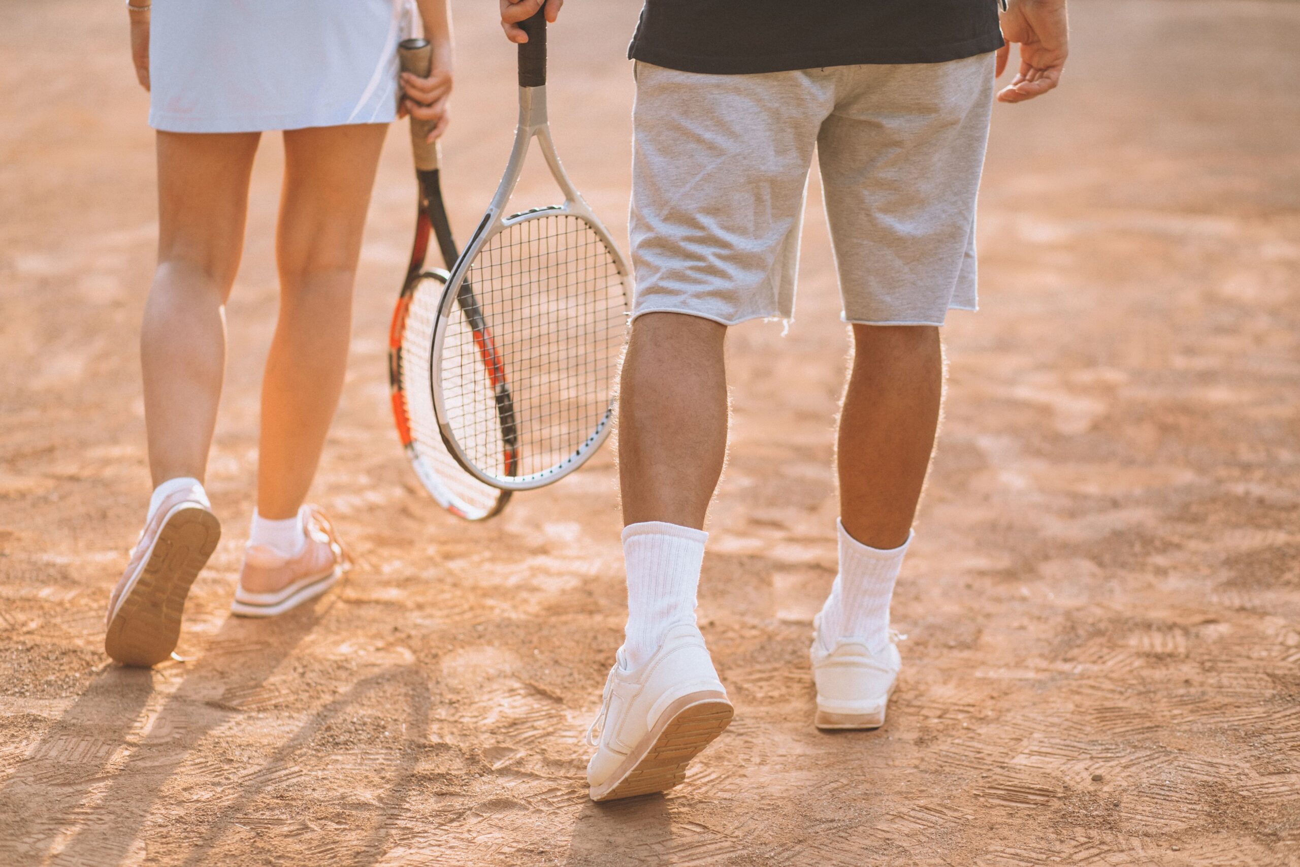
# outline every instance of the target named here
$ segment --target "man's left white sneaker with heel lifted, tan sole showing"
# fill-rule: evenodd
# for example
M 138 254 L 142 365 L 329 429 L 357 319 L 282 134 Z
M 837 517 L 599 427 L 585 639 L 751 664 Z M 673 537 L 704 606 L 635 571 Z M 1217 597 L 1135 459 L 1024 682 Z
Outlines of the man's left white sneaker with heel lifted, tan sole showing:
M 692 623 L 668 629 L 659 650 L 637 671 L 627 671 L 624 663 L 619 647 L 601 714 L 586 732 L 588 744 L 597 747 L 586 766 L 593 801 L 677 785 L 686 764 L 723 733 L 733 714 L 705 637 Z

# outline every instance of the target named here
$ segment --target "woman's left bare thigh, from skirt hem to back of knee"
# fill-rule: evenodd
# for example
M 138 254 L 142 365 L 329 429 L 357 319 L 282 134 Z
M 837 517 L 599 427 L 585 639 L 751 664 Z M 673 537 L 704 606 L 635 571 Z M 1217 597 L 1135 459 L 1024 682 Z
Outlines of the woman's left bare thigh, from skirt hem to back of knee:
M 243 251 L 259 133 L 157 133 L 159 263 L 229 291 Z

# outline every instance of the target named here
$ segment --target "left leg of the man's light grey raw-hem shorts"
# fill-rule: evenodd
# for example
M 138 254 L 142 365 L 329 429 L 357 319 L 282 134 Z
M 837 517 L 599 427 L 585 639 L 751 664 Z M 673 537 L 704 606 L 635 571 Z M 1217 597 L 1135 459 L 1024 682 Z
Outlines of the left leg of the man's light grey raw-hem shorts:
M 803 191 L 833 77 L 636 70 L 633 316 L 789 318 Z

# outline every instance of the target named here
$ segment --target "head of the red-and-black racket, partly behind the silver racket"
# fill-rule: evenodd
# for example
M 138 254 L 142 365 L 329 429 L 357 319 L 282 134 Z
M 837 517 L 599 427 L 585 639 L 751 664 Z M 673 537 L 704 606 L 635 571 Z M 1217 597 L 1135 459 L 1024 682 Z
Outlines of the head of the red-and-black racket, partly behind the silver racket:
M 442 439 L 433 407 L 429 356 L 448 274 L 425 270 L 407 281 L 389 334 L 393 419 L 407 459 L 429 495 L 452 515 L 484 521 L 510 502 L 510 491 L 467 473 Z M 498 438 L 500 425 L 498 420 Z

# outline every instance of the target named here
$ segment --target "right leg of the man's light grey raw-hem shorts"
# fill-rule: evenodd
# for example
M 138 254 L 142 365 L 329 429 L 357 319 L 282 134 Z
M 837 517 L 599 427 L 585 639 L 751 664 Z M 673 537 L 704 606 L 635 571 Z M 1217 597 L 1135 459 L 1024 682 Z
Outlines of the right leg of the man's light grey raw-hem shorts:
M 975 309 L 975 198 L 993 55 L 842 68 L 818 140 L 844 318 L 942 325 Z

